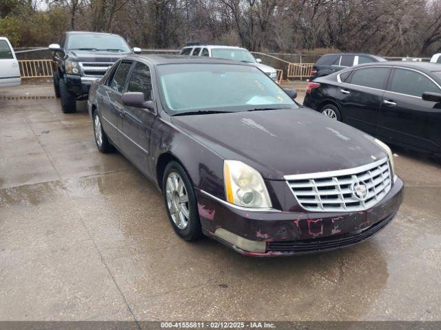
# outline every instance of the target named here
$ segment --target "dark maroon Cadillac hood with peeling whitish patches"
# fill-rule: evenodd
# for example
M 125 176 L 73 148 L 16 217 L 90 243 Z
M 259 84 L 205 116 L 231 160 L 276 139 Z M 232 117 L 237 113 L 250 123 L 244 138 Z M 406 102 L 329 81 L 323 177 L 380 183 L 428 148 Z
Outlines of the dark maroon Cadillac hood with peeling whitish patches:
M 172 117 L 172 123 L 266 179 L 353 168 L 387 157 L 370 135 L 307 108 L 183 115 Z

